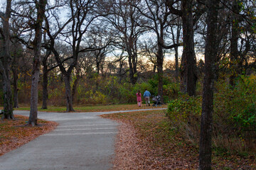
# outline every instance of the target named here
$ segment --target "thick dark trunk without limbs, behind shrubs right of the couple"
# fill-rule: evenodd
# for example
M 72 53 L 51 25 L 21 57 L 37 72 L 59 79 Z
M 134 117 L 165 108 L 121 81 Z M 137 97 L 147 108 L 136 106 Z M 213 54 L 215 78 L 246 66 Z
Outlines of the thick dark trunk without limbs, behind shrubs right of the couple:
M 183 54 L 181 58 L 181 91 L 196 95 L 196 55 L 193 39 L 193 0 L 181 2 L 183 25 Z

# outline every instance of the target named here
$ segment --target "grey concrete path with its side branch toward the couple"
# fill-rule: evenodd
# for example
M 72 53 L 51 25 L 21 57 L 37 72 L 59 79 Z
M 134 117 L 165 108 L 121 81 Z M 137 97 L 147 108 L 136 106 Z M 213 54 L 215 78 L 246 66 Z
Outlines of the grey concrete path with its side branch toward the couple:
M 118 123 L 98 115 L 121 112 L 130 111 L 38 112 L 38 118 L 55 121 L 58 127 L 1 156 L 0 170 L 111 169 Z M 28 116 L 29 111 L 15 111 L 14 114 Z

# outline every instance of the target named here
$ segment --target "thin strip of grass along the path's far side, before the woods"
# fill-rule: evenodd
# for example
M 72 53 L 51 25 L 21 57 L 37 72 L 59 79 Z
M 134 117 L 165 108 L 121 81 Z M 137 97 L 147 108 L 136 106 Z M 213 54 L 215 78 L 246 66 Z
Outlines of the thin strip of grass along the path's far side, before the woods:
M 75 112 L 102 112 L 102 111 L 127 111 L 127 110 L 136 110 L 136 109 L 144 109 L 144 108 L 156 108 L 153 106 L 146 107 L 143 105 L 142 107 L 138 107 L 137 104 L 127 104 L 127 105 L 107 105 L 107 106 L 75 106 Z M 158 106 L 157 108 L 167 108 L 166 105 Z M 20 108 L 15 108 L 16 111 L 29 111 L 30 106 L 21 106 Z M 65 112 L 65 106 L 48 106 L 48 109 L 41 109 L 41 106 L 38 107 L 38 111 L 46 111 L 46 112 Z

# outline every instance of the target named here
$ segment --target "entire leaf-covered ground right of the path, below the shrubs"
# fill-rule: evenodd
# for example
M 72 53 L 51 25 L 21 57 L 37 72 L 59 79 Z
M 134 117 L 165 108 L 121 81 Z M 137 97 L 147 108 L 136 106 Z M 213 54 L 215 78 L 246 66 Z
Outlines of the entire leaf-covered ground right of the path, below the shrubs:
M 198 145 L 178 135 L 164 111 L 139 111 L 101 116 L 120 123 L 114 170 L 198 169 Z M 255 169 L 255 167 L 255 159 L 248 160 L 237 155 L 232 157 L 213 155 L 213 169 Z

